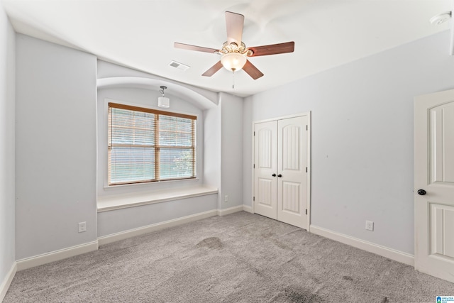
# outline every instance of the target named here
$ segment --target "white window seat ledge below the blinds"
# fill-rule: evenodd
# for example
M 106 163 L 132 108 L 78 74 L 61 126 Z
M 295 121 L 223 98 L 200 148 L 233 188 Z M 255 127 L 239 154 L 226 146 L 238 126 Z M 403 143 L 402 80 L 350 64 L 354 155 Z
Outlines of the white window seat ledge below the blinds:
M 126 209 L 128 207 L 161 203 L 179 199 L 217 194 L 216 187 L 184 187 L 177 189 L 162 189 L 138 194 L 123 194 L 109 197 L 98 197 L 98 212 Z

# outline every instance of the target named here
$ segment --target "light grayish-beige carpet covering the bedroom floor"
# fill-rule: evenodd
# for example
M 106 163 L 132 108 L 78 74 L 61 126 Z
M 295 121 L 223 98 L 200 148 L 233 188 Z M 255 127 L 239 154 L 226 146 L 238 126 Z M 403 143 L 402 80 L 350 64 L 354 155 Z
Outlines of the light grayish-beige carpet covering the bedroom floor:
M 16 273 L 9 302 L 436 302 L 453 283 L 240 212 Z

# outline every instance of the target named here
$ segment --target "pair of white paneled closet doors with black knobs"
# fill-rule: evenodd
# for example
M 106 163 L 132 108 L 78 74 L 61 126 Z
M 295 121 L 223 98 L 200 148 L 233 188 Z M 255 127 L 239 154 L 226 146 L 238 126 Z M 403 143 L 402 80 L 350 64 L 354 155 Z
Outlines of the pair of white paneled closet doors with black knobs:
M 254 212 L 306 228 L 307 116 L 255 123 Z

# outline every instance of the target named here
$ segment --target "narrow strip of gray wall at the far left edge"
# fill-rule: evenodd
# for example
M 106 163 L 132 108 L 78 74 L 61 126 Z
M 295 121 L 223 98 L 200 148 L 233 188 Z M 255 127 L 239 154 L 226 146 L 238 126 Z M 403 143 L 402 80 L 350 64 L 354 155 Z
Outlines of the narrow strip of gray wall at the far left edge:
M 15 258 L 14 95 L 15 35 L 0 2 L 0 285 Z M 0 296 L 0 301 L 1 301 Z

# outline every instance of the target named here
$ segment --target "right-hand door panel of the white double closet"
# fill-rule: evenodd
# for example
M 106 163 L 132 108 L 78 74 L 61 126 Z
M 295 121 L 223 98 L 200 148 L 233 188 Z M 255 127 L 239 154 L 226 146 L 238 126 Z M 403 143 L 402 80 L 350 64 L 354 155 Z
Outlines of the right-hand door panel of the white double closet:
M 307 116 L 277 122 L 277 220 L 307 228 Z

